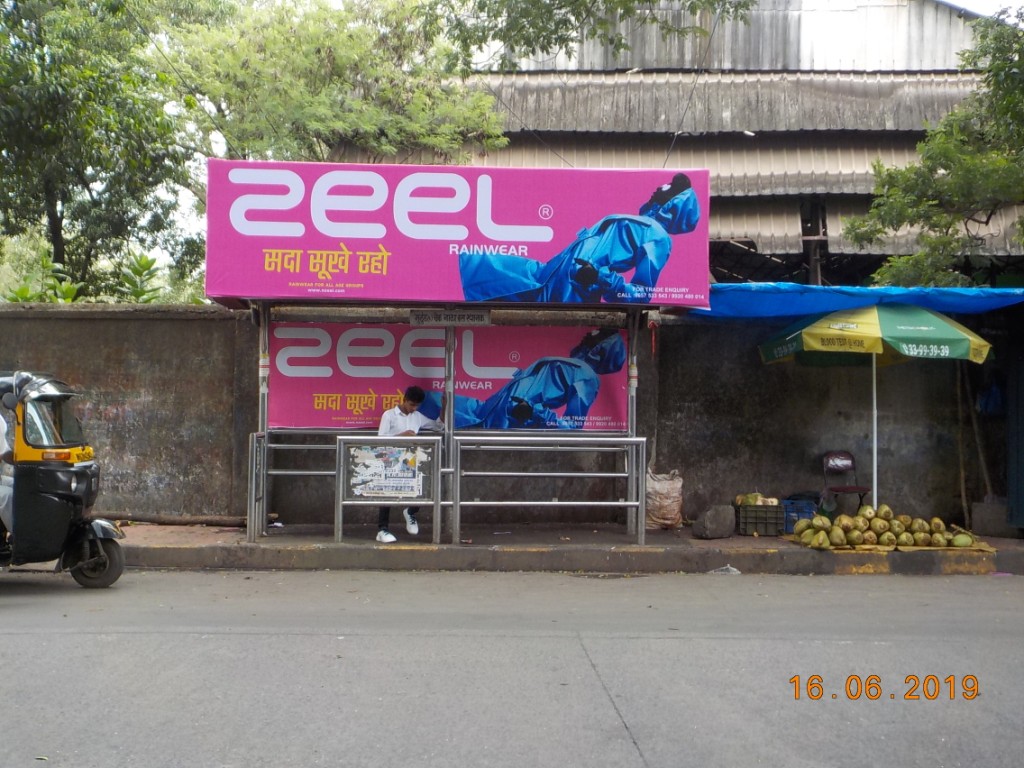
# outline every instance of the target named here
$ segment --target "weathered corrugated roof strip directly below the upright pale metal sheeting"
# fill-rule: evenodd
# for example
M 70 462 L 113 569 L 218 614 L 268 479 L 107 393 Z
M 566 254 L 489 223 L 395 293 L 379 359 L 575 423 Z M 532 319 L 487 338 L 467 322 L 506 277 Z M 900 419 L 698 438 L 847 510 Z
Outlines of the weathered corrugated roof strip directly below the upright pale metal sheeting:
M 977 78 L 955 73 L 518 73 L 475 79 L 510 133 L 921 131 Z

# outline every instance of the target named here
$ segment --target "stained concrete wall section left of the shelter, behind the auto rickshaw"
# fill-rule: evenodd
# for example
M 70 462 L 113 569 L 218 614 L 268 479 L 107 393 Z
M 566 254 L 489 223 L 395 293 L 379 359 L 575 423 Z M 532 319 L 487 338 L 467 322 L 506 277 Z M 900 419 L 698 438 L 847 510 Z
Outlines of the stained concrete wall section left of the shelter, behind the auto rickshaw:
M 0 305 L 0 369 L 79 388 L 108 516 L 244 515 L 257 329 L 217 307 Z

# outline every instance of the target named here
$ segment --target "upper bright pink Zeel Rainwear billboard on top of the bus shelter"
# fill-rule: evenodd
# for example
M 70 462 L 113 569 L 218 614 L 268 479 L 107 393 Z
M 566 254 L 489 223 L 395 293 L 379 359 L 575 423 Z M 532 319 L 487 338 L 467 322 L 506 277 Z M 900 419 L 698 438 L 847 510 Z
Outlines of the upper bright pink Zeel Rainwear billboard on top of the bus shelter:
M 210 298 L 708 307 L 707 170 L 210 160 Z

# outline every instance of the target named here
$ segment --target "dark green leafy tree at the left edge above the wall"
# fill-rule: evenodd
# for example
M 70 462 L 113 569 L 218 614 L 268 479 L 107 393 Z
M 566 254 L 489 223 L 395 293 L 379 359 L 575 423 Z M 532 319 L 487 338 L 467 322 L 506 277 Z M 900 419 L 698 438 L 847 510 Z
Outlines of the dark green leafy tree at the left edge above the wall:
M 176 201 L 184 154 L 164 75 L 121 0 L 0 3 L 0 226 L 42 222 L 54 266 L 95 293 L 104 260 L 151 247 Z

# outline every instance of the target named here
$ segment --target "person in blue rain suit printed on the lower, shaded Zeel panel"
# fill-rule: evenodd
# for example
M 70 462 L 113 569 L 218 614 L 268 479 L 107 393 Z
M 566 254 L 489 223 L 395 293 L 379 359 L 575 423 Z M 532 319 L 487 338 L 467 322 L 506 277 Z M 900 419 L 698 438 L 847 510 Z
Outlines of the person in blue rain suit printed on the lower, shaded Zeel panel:
M 591 331 L 568 357 L 541 357 L 516 371 L 485 400 L 456 395 L 457 429 L 582 429 L 601 388 L 602 374 L 621 371 L 626 344 L 615 329 Z M 559 415 L 555 409 L 564 407 Z M 428 392 L 420 412 L 440 414 L 440 393 Z

